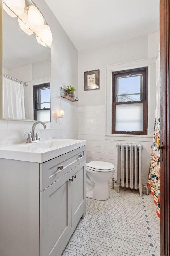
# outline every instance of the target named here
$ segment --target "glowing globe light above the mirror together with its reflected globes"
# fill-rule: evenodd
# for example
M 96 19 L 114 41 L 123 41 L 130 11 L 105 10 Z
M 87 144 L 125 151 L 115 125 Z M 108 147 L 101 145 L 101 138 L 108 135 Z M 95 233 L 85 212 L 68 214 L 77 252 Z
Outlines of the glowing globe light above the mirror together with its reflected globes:
M 25 0 L 3 0 L 3 2 L 3 9 L 8 15 L 15 18 L 16 13 L 19 16 L 19 26 L 26 34 L 32 35 L 35 32 L 38 43 L 43 46 L 52 44 L 53 36 L 50 27 L 32 0 L 29 0 L 31 4 L 28 6 L 25 6 Z

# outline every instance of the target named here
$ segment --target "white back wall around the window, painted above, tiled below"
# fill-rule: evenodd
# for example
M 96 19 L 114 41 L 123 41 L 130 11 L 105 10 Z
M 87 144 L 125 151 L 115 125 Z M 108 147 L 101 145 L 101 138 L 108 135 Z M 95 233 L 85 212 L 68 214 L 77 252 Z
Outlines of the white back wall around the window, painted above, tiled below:
M 110 105 L 111 90 L 106 97 L 107 66 L 116 66 L 119 63 L 135 62 L 142 59 L 156 58 L 159 51 L 159 33 L 152 33 L 127 41 L 115 43 L 105 47 L 99 47 L 79 52 L 79 75 L 78 75 L 78 138 L 86 139 L 86 162 L 107 161 L 117 167 L 116 144 L 120 143 L 141 143 L 143 144 L 142 176 L 143 183 L 147 183 L 148 170 L 151 156 L 151 136 L 133 137 L 105 136 L 106 134 L 106 106 Z M 100 70 L 100 89 L 84 91 L 84 71 Z M 153 74 L 152 74 L 153 75 Z M 111 81 L 111 77 L 110 77 Z M 152 95 L 155 97 L 156 81 L 152 81 Z M 155 87 L 154 87 L 155 85 Z M 155 102 L 154 102 L 155 104 Z M 154 106 L 151 111 L 154 113 Z M 150 116 L 150 121 L 154 116 Z M 153 121 L 154 130 L 154 121 Z M 151 132 L 152 133 L 152 132 Z M 117 169 L 114 177 L 117 178 Z

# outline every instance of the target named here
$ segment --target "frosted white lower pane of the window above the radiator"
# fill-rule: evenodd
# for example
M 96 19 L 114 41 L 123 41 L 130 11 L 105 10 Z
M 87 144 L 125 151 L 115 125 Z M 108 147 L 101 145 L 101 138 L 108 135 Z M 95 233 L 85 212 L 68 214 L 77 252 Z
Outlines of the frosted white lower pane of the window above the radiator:
M 143 103 L 116 105 L 116 131 L 143 131 Z

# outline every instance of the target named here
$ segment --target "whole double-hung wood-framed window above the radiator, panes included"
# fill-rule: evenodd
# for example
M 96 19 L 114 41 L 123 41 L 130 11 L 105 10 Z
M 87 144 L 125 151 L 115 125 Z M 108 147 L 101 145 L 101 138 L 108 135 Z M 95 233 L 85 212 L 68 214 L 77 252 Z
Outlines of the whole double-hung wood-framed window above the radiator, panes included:
M 148 67 L 112 72 L 112 134 L 147 135 Z

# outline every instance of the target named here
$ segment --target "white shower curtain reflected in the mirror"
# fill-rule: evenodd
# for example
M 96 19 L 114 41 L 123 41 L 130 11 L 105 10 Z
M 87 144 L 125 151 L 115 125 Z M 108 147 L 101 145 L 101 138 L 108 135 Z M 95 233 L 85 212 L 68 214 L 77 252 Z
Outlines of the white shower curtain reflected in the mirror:
M 4 118 L 25 119 L 23 84 L 4 78 Z

